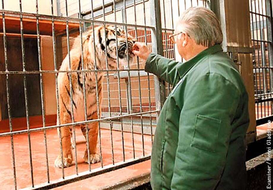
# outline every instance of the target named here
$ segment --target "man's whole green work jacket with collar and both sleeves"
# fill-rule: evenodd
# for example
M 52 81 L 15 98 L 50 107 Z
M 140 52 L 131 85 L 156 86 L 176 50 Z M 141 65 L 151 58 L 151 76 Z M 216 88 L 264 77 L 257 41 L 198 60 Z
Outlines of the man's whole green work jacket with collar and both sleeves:
M 151 53 L 145 71 L 173 85 L 154 137 L 153 190 L 245 189 L 248 95 L 221 46 L 185 63 Z

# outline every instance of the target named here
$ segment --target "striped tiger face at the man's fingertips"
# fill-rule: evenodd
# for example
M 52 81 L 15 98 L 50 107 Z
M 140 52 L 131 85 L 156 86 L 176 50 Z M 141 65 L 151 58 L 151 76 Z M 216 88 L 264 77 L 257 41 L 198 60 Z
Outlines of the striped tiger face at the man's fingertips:
M 122 28 L 106 25 L 104 30 L 104 26 L 100 26 L 95 28 L 95 34 L 98 36 L 98 38 L 95 37 L 96 51 L 100 55 L 100 62 L 105 62 L 105 66 L 102 65 L 103 68 L 106 68 L 108 64 L 109 69 L 117 69 L 118 63 L 119 68 L 122 68 L 133 61 L 132 47 L 136 39 L 129 34 L 126 35 Z M 107 56 L 107 61 L 105 56 Z

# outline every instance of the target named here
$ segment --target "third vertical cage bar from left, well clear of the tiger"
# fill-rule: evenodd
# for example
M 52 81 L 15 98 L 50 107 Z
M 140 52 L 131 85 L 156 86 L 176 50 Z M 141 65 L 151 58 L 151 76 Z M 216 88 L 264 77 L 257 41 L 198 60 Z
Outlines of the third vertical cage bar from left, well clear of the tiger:
M 37 44 L 38 44 L 38 60 L 39 60 L 39 72 L 42 71 L 42 62 L 41 62 L 41 43 L 40 43 L 40 28 L 39 28 L 39 17 L 38 17 L 38 0 L 36 0 L 36 28 L 37 28 Z M 40 90 L 41 90 L 41 105 L 42 105 L 42 120 L 43 127 L 45 127 L 45 105 L 44 105 L 44 86 L 42 73 L 40 73 Z M 48 155 L 47 155 L 47 136 L 46 130 L 44 132 L 44 143 L 45 143 L 45 157 L 46 157 L 46 166 L 47 166 L 47 183 L 49 183 L 49 169 L 48 169 Z

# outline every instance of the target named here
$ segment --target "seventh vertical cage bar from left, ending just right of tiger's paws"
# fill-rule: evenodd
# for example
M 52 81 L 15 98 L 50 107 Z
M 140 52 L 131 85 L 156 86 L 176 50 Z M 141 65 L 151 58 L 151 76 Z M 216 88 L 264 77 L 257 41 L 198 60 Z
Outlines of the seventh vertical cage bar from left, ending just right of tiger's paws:
M 94 19 L 94 12 L 93 12 L 93 0 L 91 0 L 91 10 L 92 10 L 92 20 Z M 95 30 L 94 30 L 94 22 L 92 22 L 92 29 L 93 29 L 93 39 L 95 39 Z M 95 40 L 93 40 L 93 46 L 94 46 L 94 55 L 96 55 L 96 44 L 95 44 Z M 96 56 L 94 56 L 94 65 L 95 65 L 95 81 L 96 81 L 96 100 L 97 100 L 97 113 L 98 113 L 98 118 L 100 119 L 100 110 L 99 110 L 99 94 L 98 94 L 98 72 L 97 70 L 97 60 L 96 60 Z M 102 161 L 102 154 L 101 154 L 101 125 L 99 122 L 99 151 L 100 151 L 100 159 L 101 159 L 101 167 L 103 167 L 103 161 Z M 88 155 L 88 159 L 89 155 Z M 89 161 L 90 163 L 90 161 Z M 89 170 L 90 170 L 90 166 L 89 166 Z M 91 171 L 91 170 L 90 170 Z

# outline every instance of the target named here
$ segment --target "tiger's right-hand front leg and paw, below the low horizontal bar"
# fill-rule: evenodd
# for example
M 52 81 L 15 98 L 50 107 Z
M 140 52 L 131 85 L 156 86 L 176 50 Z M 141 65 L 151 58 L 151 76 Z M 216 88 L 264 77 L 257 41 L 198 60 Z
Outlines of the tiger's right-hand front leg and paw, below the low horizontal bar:
M 85 128 L 85 126 L 84 126 L 84 128 Z M 99 156 L 99 154 L 97 154 L 98 132 L 99 132 L 99 122 L 92 122 L 92 123 L 88 124 L 88 142 L 89 142 L 89 153 L 90 153 L 90 163 L 91 164 L 100 162 L 100 156 Z M 86 138 L 86 135 L 85 135 L 85 138 Z M 83 158 L 84 158 L 85 162 L 88 163 L 87 146 L 85 148 L 85 153 L 84 153 Z

